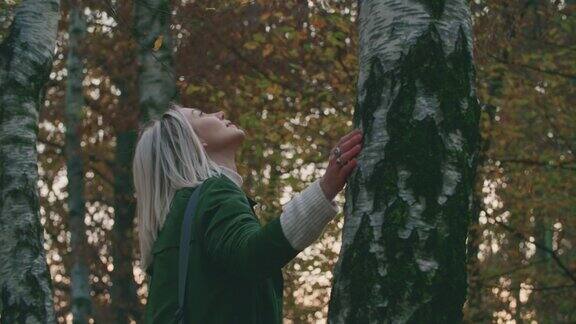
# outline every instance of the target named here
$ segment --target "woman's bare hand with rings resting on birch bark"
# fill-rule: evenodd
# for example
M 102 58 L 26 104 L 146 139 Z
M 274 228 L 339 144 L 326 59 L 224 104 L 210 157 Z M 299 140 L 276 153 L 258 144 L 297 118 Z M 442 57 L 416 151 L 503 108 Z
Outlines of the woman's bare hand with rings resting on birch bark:
M 340 160 L 342 166 L 337 162 L 338 156 L 335 154 L 335 149 L 340 148 Z M 346 179 L 352 173 L 358 162 L 354 157 L 356 157 L 362 150 L 362 132 L 359 129 L 355 129 L 352 132 L 346 134 L 340 139 L 338 145 L 336 145 L 330 152 L 330 160 L 328 162 L 328 168 L 326 173 L 320 179 L 320 187 L 324 191 L 324 195 L 328 200 L 332 201 L 336 194 L 344 188 L 346 184 Z

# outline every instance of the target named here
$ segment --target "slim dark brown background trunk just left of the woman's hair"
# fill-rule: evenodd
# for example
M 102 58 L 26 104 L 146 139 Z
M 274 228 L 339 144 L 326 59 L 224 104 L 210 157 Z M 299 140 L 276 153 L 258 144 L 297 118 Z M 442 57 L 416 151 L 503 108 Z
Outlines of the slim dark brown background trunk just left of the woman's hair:
M 144 2 L 142 5 L 145 5 Z M 117 15 L 124 29 L 129 28 L 132 18 L 133 6 L 130 2 L 118 3 Z M 131 37 L 131 34 L 122 31 L 118 36 L 121 39 Z M 129 58 L 125 64 L 134 64 L 136 51 L 132 46 L 123 48 L 125 56 Z M 114 173 L 114 227 L 112 228 L 112 258 L 114 269 L 112 271 L 112 316 L 115 323 L 129 323 L 130 319 L 141 322 L 141 304 L 138 299 L 137 284 L 134 280 L 134 216 L 136 205 L 134 189 L 132 186 L 132 156 L 136 143 L 137 132 L 137 102 L 136 74 L 132 70 L 118 69 L 114 71 L 112 80 L 122 91 L 119 98 L 118 113 L 114 122 L 116 132 L 116 148 L 112 165 Z

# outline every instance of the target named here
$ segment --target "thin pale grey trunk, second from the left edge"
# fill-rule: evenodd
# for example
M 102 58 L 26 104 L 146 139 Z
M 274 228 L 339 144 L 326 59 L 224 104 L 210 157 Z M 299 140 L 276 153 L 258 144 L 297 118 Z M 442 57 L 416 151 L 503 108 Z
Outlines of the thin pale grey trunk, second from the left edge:
M 84 225 L 84 170 L 82 166 L 81 118 L 84 106 L 82 93 L 82 57 L 80 43 L 86 32 L 86 18 L 79 3 L 71 1 L 69 18 L 69 46 L 66 69 L 66 169 L 68 176 L 68 222 L 72 271 L 70 291 L 74 323 L 88 323 L 92 302 L 90 299 L 90 269 L 86 263 L 88 246 Z

